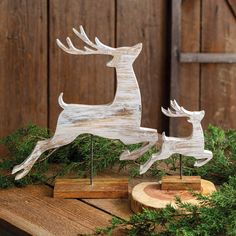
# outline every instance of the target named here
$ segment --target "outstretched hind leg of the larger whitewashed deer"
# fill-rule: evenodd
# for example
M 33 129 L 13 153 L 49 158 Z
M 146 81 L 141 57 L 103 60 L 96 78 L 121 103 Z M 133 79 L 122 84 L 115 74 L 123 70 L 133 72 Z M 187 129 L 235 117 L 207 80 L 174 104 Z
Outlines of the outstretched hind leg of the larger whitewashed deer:
M 71 136 L 69 138 L 67 137 L 67 139 L 62 139 L 62 137 L 60 137 L 59 139 L 59 136 L 58 137 L 54 136 L 52 139 L 38 141 L 30 156 L 27 159 L 25 159 L 25 161 L 22 162 L 21 164 L 14 166 L 12 174 L 15 174 L 20 171 L 16 175 L 15 180 L 19 180 L 24 176 L 26 176 L 42 153 L 44 153 L 49 149 L 67 145 L 71 143 L 76 137 L 77 136 L 75 137 Z

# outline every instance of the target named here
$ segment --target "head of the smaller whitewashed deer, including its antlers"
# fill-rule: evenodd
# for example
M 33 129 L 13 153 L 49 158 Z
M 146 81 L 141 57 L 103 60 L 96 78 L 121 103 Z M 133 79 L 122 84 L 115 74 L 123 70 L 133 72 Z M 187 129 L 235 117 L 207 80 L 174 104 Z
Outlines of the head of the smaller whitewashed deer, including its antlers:
M 188 122 L 193 123 L 196 121 L 200 122 L 205 116 L 205 111 L 188 111 L 183 107 L 180 107 L 175 100 L 171 100 L 170 105 L 172 109 L 168 108 L 166 110 L 163 107 L 161 108 L 161 111 L 169 117 L 188 117 Z

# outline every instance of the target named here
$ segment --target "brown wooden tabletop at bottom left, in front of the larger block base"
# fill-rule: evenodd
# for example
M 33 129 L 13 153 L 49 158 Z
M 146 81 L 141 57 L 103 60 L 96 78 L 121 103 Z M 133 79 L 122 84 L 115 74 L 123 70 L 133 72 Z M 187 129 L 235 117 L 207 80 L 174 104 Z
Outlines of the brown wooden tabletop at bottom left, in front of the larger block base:
M 0 218 L 33 235 L 78 235 L 105 227 L 108 215 L 78 200 L 53 199 L 52 189 L 0 190 Z

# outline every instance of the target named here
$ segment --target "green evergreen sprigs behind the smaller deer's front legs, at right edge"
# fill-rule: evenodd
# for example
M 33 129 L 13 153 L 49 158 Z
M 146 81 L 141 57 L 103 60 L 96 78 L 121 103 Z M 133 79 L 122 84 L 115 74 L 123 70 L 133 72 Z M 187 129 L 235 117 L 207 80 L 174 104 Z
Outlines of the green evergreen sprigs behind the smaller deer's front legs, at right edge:
M 222 184 L 234 176 L 236 170 L 236 131 L 210 125 L 205 132 L 205 149 L 213 152 L 206 165 L 193 168 L 194 159 L 184 158 L 184 174 L 200 175 L 216 184 Z

